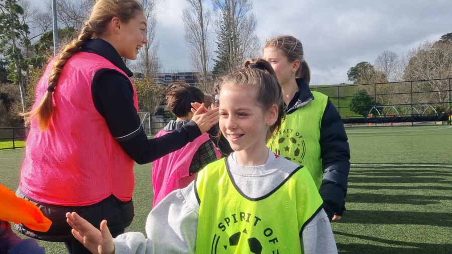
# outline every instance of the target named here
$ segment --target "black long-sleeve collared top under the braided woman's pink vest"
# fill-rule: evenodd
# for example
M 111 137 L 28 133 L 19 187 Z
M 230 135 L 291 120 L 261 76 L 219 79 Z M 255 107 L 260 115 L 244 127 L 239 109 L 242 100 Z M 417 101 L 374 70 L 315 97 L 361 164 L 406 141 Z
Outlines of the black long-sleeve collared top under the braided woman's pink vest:
M 87 41 L 81 51 L 100 55 L 129 77 L 133 75 L 116 49 L 102 39 Z M 196 123 L 189 121 L 171 134 L 148 140 L 134 106 L 132 84 L 116 70 L 97 71 L 91 80 L 91 94 L 94 106 L 105 118 L 111 135 L 138 164 L 152 162 L 176 151 L 201 135 Z

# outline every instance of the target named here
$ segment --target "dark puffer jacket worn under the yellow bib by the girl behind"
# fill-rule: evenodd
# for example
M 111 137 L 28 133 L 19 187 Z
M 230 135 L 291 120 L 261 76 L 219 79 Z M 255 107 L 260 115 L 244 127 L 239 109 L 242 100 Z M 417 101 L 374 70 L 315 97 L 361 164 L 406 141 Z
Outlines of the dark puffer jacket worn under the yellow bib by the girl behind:
M 295 93 L 286 109 L 294 112 L 315 99 L 304 79 L 297 79 L 299 91 Z M 319 192 L 324 208 L 331 218 L 343 214 L 347 195 L 347 178 L 350 170 L 350 147 L 341 116 L 328 100 L 320 123 L 320 157 L 322 159 L 322 184 Z

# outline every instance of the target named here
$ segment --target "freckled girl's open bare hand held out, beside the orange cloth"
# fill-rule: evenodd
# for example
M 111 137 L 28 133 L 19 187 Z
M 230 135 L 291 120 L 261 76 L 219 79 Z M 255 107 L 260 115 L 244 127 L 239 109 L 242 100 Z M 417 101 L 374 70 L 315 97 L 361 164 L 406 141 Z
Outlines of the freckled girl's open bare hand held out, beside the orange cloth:
M 67 223 L 72 227 L 72 234 L 75 239 L 83 243 L 92 253 L 110 254 L 115 252 L 115 244 L 110 230 L 106 225 L 107 221 L 100 222 L 100 231 L 91 223 L 80 217 L 76 212 L 66 213 Z

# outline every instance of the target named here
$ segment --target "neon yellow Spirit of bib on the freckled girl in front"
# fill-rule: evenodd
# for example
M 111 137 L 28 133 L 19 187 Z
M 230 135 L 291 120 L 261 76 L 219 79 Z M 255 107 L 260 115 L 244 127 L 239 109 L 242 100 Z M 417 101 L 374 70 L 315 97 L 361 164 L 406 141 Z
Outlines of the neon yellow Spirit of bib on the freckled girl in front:
M 196 253 L 300 253 L 300 235 L 323 203 L 304 167 L 260 198 L 236 188 L 225 159 L 195 179 L 199 202 Z

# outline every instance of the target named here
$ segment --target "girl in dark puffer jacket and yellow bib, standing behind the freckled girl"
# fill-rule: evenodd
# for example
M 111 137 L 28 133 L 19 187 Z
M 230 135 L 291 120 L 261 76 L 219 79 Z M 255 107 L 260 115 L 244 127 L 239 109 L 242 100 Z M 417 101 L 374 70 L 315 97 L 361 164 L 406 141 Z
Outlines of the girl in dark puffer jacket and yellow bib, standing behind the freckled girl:
M 267 41 L 263 51 L 276 72 L 286 105 L 286 119 L 267 145 L 309 169 L 328 217 L 340 220 L 350 170 L 341 116 L 326 95 L 309 89 L 311 74 L 299 40 L 278 36 Z

